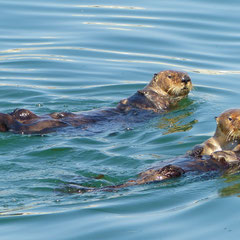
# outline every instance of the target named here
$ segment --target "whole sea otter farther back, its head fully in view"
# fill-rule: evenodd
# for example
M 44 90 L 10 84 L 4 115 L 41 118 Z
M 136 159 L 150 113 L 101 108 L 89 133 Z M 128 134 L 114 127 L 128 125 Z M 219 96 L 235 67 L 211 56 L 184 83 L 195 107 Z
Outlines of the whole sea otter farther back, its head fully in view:
M 94 110 L 82 113 L 59 112 L 38 116 L 27 109 L 16 109 L 12 113 L 0 113 L 0 131 L 15 133 L 47 133 L 56 129 L 99 121 L 126 115 L 129 112 L 147 111 L 162 113 L 176 106 L 192 89 L 192 82 L 187 73 L 162 71 L 154 74 L 151 82 L 133 96 L 123 99 L 116 108 Z

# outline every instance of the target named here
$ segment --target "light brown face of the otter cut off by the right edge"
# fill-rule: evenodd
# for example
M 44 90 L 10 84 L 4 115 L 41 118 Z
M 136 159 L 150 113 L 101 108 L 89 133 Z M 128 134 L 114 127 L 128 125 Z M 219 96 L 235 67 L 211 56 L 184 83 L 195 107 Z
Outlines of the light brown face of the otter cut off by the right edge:
M 216 117 L 216 121 L 226 141 L 240 140 L 240 109 L 227 110 Z

